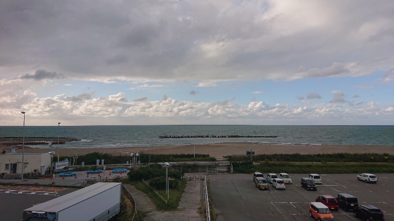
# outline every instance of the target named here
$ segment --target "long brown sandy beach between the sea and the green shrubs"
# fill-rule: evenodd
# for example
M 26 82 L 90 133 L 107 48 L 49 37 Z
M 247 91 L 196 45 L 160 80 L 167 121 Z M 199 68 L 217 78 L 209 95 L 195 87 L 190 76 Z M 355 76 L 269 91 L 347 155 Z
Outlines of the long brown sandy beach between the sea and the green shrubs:
M 246 154 L 252 150 L 256 154 L 322 154 L 322 153 L 376 153 L 394 155 L 394 146 L 370 145 L 284 145 L 263 143 L 214 143 L 181 146 L 153 146 L 126 148 L 59 148 L 61 156 L 84 155 L 93 152 L 114 155 L 145 154 L 209 154 L 211 157 L 223 158 L 224 155 Z M 21 152 L 18 149 L 18 152 Z M 50 148 L 25 148 L 25 152 L 49 152 Z M 57 148 L 53 148 L 57 151 Z

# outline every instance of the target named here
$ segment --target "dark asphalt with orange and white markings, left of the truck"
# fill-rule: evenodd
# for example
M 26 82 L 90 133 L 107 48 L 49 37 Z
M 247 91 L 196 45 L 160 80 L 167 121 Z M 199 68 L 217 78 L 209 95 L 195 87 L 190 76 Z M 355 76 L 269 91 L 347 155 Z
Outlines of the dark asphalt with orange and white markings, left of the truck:
M 0 186 L 0 220 L 20 221 L 24 209 L 76 190 L 48 186 Z

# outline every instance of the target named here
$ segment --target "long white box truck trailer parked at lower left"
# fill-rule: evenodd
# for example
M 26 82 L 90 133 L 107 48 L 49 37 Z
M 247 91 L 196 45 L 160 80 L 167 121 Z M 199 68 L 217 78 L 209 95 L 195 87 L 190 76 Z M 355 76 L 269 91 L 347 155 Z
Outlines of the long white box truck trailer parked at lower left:
M 107 221 L 120 212 L 122 183 L 96 183 L 23 211 L 23 221 Z

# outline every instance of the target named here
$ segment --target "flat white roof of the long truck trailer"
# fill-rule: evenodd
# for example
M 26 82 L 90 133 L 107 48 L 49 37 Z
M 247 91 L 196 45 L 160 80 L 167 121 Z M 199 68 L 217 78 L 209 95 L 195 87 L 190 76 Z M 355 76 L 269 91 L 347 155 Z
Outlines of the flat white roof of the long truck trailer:
M 118 185 L 122 185 L 122 183 L 96 183 L 91 186 L 74 191 L 72 193 L 68 193 L 58 198 L 40 203 L 38 205 L 25 209 L 24 211 L 42 211 L 57 213 Z

